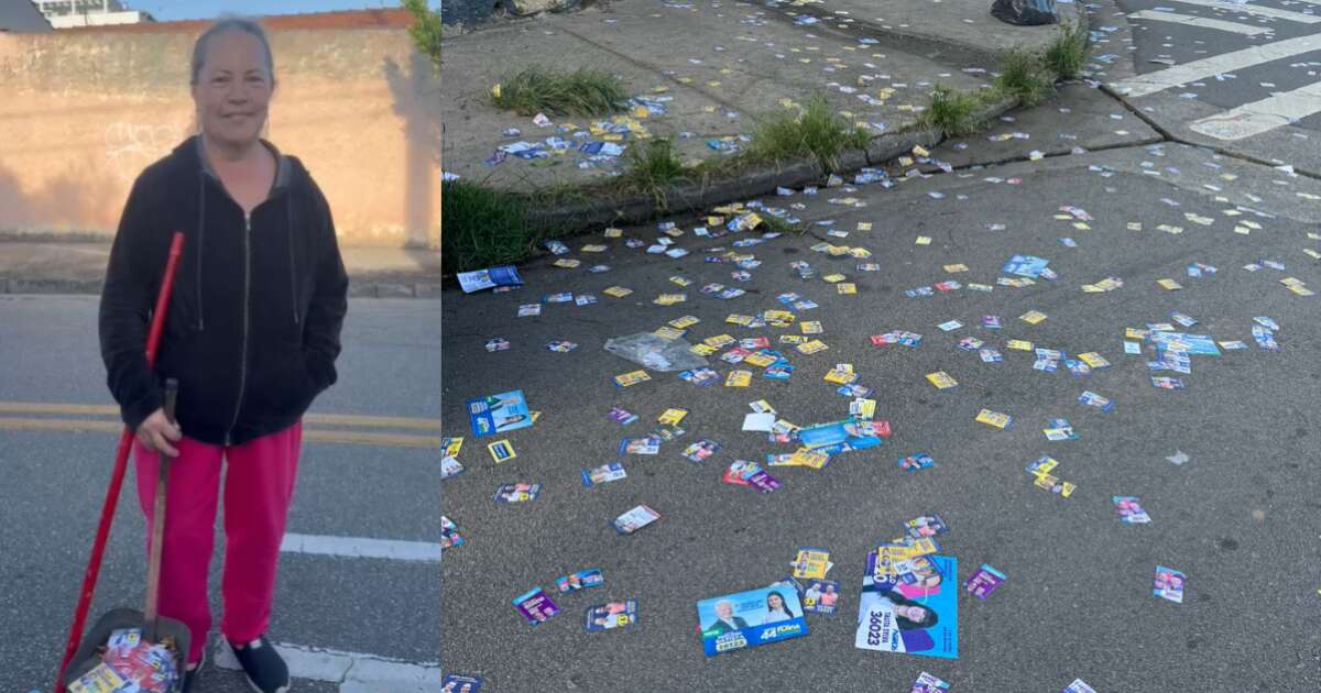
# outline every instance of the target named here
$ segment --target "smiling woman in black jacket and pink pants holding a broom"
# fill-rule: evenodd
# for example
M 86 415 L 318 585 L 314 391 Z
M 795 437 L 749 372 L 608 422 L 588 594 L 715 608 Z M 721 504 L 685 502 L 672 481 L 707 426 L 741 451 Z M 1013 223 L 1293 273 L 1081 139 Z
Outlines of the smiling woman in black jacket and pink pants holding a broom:
M 193 48 L 199 133 L 139 176 L 106 271 L 100 346 L 152 521 L 157 455 L 173 458 L 160 612 L 188 624 L 193 685 L 211 628 L 207 566 L 221 461 L 225 616 L 221 634 L 248 684 L 289 688 L 267 636 L 276 564 L 301 442 L 301 417 L 334 384 L 347 276 L 330 209 L 297 158 L 259 137 L 275 88 L 262 26 L 229 17 Z M 186 236 L 155 370 L 148 317 L 170 235 Z M 161 383 L 180 381 L 177 422 Z

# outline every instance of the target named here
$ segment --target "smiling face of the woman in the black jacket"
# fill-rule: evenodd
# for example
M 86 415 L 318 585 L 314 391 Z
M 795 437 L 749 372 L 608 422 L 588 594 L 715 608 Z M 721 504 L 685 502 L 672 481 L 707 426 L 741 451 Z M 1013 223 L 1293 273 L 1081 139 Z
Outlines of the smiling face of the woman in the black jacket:
M 193 86 L 202 131 L 232 147 L 256 141 L 271 103 L 272 78 L 266 51 L 252 34 L 227 32 L 211 37 Z

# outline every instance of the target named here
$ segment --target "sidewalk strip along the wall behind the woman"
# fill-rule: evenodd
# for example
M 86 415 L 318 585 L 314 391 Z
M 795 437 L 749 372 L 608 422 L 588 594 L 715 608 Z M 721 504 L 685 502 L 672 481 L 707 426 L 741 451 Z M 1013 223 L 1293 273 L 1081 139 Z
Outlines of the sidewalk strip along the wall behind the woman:
M 349 296 L 440 298 L 440 253 L 341 248 Z M 0 293 L 100 293 L 110 243 L 0 240 Z

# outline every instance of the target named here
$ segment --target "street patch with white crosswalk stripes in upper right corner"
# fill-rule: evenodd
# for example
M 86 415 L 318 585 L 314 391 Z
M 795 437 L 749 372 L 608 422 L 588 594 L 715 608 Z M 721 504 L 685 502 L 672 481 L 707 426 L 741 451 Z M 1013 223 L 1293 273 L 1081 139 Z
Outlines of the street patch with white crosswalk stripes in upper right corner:
M 1321 5 L 1118 4 L 1136 50 L 1111 75 L 1116 91 L 1180 137 L 1321 172 Z

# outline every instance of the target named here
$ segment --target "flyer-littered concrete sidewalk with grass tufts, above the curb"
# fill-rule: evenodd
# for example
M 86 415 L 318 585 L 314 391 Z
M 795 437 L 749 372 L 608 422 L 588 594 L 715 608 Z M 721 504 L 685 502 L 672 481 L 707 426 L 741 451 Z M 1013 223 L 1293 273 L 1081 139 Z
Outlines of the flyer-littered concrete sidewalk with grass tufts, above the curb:
M 1065 4 L 1074 20 L 1081 7 Z M 878 15 L 878 16 L 877 16 Z M 806 0 L 770 8 L 618 0 L 572 15 L 494 28 L 445 41 L 441 104 L 444 168 L 461 178 L 513 191 L 575 186 L 624 169 L 621 158 L 576 150 L 604 117 L 531 117 L 497 110 L 490 88 L 528 66 L 604 69 L 621 75 L 635 98 L 654 99 L 649 114 L 617 124 L 635 137 L 671 137 L 686 162 L 724 156 L 711 141 L 748 136 L 758 119 L 824 95 L 873 136 L 910 125 L 945 84 L 974 90 L 989 82 L 995 55 L 1018 46 L 1040 49 L 1055 26 L 1012 26 L 989 15 L 988 0 Z M 519 46 L 511 51 L 510 46 Z M 462 75 L 454 79 L 453 75 Z M 659 107 L 659 108 L 657 108 Z M 517 136 L 502 136 L 517 128 Z M 547 158 L 498 161 L 498 148 L 569 140 Z M 600 140 L 597 135 L 588 141 Z M 737 144 L 737 143 L 736 143 Z

